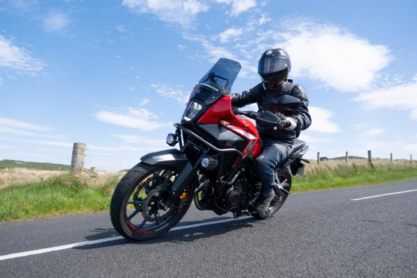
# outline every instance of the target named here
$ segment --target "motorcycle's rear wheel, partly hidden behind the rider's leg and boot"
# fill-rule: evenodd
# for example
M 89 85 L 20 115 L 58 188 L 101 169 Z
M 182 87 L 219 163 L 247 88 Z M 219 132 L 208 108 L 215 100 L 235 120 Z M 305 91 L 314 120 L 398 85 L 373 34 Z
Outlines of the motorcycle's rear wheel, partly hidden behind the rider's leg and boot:
M 291 190 L 291 174 L 287 170 L 283 169 L 277 169 L 275 170 L 275 183 L 281 184 L 282 187 L 284 187 L 285 190 L 290 191 Z M 264 217 L 261 217 L 258 213 L 253 213 L 255 218 L 258 219 L 265 219 L 265 218 L 272 218 L 277 211 L 279 211 L 279 208 L 281 208 L 284 205 L 284 202 L 286 201 L 286 198 L 288 197 L 287 193 L 284 193 L 283 191 L 279 190 L 279 188 L 274 188 L 275 191 L 275 197 L 272 199 L 270 206 L 266 210 Z

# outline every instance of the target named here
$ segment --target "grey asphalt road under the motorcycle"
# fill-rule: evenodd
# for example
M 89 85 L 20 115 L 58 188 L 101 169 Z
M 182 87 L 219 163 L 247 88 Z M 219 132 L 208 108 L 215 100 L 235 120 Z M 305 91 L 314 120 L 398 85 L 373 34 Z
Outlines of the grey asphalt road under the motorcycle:
M 269 220 L 3 259 L 0 277 L 417 277 L 416 189 L 409 181 L 295 194 Z M 375 195 L 384 196 L 351 200 Z M 178 226 L 225 218 L 192 207 Z M 118 236 L 108 213 L 0 223 L 0 235 L 0 258 Z

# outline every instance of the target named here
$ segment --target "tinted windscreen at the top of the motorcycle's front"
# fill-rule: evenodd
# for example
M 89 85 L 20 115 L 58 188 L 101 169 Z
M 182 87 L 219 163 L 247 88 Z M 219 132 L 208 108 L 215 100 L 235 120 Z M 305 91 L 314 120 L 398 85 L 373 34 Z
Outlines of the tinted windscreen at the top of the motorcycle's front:
M 230 90 L 241 68 L 240 63 L 234 60 L 220 58 L 200 79 L 199 84 L 206 84 L 218 90 Z

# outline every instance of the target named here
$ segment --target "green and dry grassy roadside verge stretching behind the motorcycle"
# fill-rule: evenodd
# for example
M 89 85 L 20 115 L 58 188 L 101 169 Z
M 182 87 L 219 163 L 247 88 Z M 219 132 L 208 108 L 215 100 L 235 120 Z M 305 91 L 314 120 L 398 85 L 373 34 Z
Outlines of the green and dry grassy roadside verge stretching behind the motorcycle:
M 63 171 L 0 170 L 0 221 L 24 220 L 67 213 L 106 211 L 123 172 L 70 174 Z M 293 179 L 291 191 L 366 186 L 417 179 L 409 161 L 321 161 L 306 165 L 304 177 Z

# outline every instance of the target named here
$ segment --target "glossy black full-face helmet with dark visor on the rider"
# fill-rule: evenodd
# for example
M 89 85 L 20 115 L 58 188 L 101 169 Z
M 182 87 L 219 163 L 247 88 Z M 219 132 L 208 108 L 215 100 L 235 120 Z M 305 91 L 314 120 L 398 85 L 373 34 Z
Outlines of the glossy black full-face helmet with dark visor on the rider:
M 284 49 L 276 48 L 263 52 L 258 62 L 258 74 L 263 82 L 273 85 L 288 78 L 291 70 L 290 56 Z

